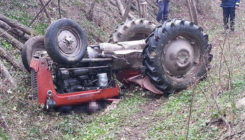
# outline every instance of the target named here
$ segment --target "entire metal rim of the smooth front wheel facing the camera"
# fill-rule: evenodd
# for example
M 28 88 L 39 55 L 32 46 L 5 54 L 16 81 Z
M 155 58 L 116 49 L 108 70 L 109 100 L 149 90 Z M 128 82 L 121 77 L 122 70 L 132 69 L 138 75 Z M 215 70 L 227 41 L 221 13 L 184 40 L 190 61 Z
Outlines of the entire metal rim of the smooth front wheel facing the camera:
M 81 38 L 77 31 L 70 27 L 61 28 L 58 32 L 57 39 L 59 50 L 65 56 L 76 56 L 79 50 L 81 50 Z

